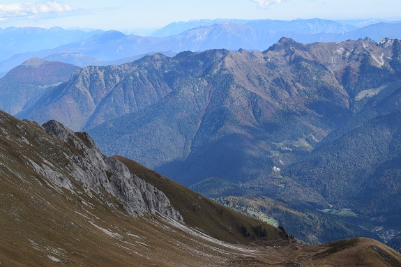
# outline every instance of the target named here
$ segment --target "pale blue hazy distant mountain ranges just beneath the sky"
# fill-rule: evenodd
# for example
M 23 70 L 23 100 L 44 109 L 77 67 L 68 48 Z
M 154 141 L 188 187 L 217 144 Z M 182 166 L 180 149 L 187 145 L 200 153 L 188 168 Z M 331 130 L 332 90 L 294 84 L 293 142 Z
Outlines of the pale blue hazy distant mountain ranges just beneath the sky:
M 127 63 L 137 59 L 135 56 L 156 52 L 172 56 L 187 50 L 198 52 L 220 48 L 233 51 L 240 48 L 263 51 L 277 43 L 282 37 L 292 38 L 300 43 L 341 42 L 365 37 L 379 41 L 386 37 L 401 37 L 400 23 L 372 24 L 377 22 L 375 20 L 358 22 L 364 26 L 358 28 L 350 24 L 320 19 L 292 21 L 197 20 L 169 24 L 154 33 L 154 36 L 148 37 L 126 36 L 119 31 L 88 32 L 85 33 L 86 36 L 91 37 L 82 36 L 80 40 L 77 40 L 79 38 L 60 38 L 58 35 L 54 35 L 54 39 L 63 40 L 64 43 L 57 46 L 55 41 L 47 42 L 50 43 L 47 47 L 24 47 L 22 51 L 20 49 L 15 52 L 6 49 L 8 57 L 3 58 L 3 61 L 0 62 L 0 73 L 7 72 L 31 57 L 73 63 L 80 67 L 105 66 Z M 358 23 L 354 22 L 354 24 Z M 24 29 L 19 31 L 24 31 Z M 57 33 L 59 33 L 58 31 Z M 63 34 L 68 36 L 71 33 L 66 31 Z M 41 40 L 40 35 L 34 37 Z M 21 46 L 24 43 L 35 42 L 24 42 L 22 39 L 18 42 Z M 8 47 L 13 47 L 13 43 L 9 41 Z

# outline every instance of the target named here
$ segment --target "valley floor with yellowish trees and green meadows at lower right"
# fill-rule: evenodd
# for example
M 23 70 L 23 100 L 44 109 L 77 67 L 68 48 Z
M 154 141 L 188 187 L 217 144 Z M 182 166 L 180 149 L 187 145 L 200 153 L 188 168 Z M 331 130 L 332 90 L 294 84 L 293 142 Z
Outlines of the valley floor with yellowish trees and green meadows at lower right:
M 290 208 L 286 204 L 267 197 L 218 197 L 213 200 L 274 227 L 284 227 L 289 234 L 305 243 L 328 242 L 331 238 L 341 239 L 352 236 L 351 233 L 358 233 L 357 236 L 370 236 L 370 238 L 388 243 L 401 234 L 398 225 L 386 224 L 388 218 L 361 216 L 350 211 L 349 208 L 321 210 L 321 213 L 327 214 L 325 216 L 312 209 Z M 330 235 L 326 236 L 326 233 Z

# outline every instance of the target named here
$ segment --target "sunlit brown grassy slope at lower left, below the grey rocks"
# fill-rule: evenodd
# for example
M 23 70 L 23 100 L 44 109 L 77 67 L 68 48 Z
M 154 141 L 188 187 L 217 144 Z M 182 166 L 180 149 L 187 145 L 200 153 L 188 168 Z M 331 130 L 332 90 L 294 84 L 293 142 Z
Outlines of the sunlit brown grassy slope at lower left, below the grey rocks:
M 60 188 L 28 159 L 63 171 L 80 151 L 1 112 L 0 125 L 1 266 L 227 266 L 252 254 L 155 215 L 133 218 L 105 192 L 114 205 L 89 197 L 67 172 L 75 190 Z

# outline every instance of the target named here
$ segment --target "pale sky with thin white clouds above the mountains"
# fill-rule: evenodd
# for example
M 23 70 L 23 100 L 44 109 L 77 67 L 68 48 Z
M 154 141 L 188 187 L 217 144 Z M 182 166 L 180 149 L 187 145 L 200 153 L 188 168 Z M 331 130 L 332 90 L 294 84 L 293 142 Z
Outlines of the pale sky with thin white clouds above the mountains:
M 401 20 L 400 10 L 400 0 L 1 0 L 0 28 L 60 26 L 127 32 L 215 18 L 391 21 Z

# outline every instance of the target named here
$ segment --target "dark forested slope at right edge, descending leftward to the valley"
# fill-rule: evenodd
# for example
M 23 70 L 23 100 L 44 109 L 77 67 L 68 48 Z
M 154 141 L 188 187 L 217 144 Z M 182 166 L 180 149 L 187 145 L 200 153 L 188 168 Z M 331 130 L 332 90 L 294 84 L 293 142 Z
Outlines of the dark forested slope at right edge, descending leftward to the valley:
M 360 123 L 295 162 L 284 175 L 313 188 L 331 204 L 365 215 L 397 215 L 401 113 Z

